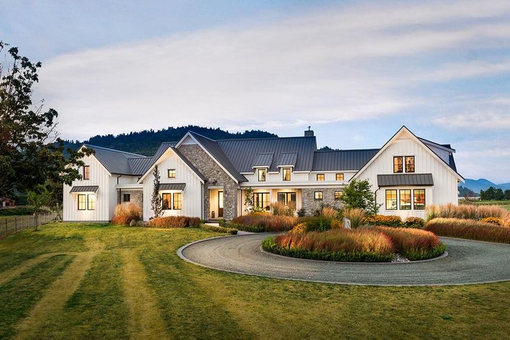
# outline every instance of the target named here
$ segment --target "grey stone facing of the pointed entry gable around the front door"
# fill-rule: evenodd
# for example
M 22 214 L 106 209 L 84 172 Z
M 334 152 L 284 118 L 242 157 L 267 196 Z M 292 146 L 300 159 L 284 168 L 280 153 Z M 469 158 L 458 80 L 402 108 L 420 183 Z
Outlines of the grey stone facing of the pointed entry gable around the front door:
M 205 219 L 211 218 L 209 186 L 223 187 L 223 219 L 230 221 L 237 216 L 237 189 L 239 185 L 232 180 L 228 173 L 197 144 L 182 144 L 179 151 L 192 162 L 192 164 L 207 178 L 204 184 L 204 215 Z

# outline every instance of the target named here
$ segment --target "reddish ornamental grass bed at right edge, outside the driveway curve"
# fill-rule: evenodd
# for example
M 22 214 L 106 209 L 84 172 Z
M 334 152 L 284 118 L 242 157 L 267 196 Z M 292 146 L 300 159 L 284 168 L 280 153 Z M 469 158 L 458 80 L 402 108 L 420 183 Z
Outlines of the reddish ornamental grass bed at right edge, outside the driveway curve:
M 510 244 L 510 228 L 470 219 L 432 219 L 425 230 L 445 237 Z

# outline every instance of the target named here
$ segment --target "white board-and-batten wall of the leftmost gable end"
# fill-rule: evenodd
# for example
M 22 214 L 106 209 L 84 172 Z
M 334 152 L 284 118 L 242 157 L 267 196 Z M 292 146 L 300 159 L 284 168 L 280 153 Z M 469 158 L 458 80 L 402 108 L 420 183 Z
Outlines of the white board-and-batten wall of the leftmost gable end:
M 85 156 L 82 160 L 85 165 L 90 166 L 90 179 L 74 180 L 71 186 L 64 185 L 62 219 L 64 221 L 110 221 L 117 204 L 114 184 L 117 178 L 106 171 L 94 155 Z M 79 171 L 83 175 L 83 167 L 80 167 Z M 69 193 L 71 187 L 75 185 L 99 186 L 96 192 L 95 210 L 78 210 L 78 194 Z

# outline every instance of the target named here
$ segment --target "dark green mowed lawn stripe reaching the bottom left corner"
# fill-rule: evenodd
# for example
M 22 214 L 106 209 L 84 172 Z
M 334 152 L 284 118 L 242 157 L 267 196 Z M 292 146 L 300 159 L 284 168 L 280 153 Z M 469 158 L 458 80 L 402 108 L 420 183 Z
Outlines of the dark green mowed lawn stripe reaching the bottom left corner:
M 31 269 L 20 273 L 0 285 L 0 339 L 16 334 L 15 326 L 28 315 L 29 310 L 40 300 L 52 282 L 65 271 L 73 260 L 69 255 L 49 257 Z

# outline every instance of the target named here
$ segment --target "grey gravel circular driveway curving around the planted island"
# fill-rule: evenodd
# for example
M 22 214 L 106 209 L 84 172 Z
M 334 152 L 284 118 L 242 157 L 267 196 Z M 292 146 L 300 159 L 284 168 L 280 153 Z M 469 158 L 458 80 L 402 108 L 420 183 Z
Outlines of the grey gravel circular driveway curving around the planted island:
M 423 262 L 349 263 L 303 260 L 266 253 L 271 234 L 205 239 L 182 246 L 187 262 L 220 271 L 339 284 L 420 286 L 475 284 L 510 280 L 510 244 L 441 237 L 448 256 Z

